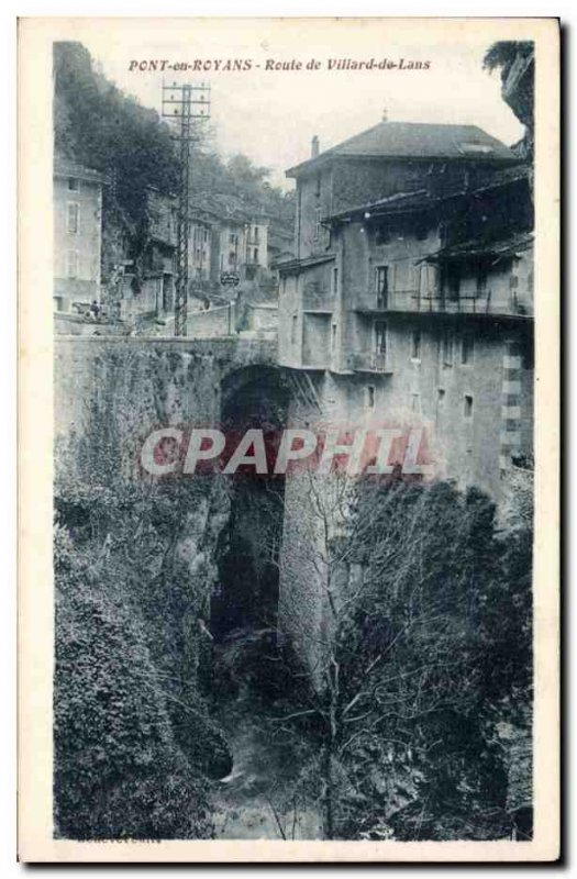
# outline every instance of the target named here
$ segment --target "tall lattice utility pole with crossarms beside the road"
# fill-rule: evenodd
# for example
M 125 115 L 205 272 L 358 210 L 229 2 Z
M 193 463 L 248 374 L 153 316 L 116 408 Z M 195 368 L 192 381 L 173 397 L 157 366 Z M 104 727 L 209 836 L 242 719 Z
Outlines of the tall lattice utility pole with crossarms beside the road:
M 190 144 L 198 140 L 193 120 L 210 119 L 210 85 L 188 84 L 165 86 L 163 82 L 163 116 L 173 125 L 178 144 L 180 179 L 178 187 L 175 336 L 187 334 L 188 310 L 188 242 L 190 231 Z

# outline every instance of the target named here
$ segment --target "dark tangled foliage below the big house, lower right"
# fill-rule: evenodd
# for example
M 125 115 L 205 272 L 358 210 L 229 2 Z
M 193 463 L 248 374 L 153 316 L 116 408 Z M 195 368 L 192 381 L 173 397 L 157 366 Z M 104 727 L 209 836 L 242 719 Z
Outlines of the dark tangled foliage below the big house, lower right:
M 500 528 L 486 496 L 446 483 L 370 485 L 346 505 L 348 538 L 315 550 L 320 686 L 292 658 L 271 728 L 304 743 L 300 785 L 330 838 L 507 837 L 531 802 L 530 746 L 511 774 L 530 741 L 531 522 Z

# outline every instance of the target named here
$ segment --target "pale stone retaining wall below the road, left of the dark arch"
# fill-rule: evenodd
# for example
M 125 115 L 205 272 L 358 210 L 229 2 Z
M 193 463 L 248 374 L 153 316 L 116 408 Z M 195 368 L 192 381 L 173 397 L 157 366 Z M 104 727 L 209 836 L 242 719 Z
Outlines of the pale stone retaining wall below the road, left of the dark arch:
M 218 423 L 221 382 L 246 367 L 276 365 L 276 343 L 267 340 L 57 336 L 54 344 L 56 438 L 82 435 L 90 407 L 111 394 L 131 472 L 151 430 Z

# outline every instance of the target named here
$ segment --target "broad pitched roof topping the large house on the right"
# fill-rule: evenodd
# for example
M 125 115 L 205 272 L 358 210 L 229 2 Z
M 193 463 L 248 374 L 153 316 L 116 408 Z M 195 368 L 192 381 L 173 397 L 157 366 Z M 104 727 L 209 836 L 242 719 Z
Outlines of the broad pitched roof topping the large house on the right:
M 508 146 L 477 125 L 444 125 L 425 122 L 379 122 L 360 134 L 325 149 L 315 158 L 289 168 L 287 177 L 330 158 L 476 158 L 519 162 Z

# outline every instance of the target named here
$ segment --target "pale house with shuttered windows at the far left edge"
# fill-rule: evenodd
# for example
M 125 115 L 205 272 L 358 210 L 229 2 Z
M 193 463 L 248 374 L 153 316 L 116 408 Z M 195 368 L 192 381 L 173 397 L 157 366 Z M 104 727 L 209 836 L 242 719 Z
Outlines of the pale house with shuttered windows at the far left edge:
M 100 301 L 103 177 L 74 162 L 54 164 L 54 307 Z

